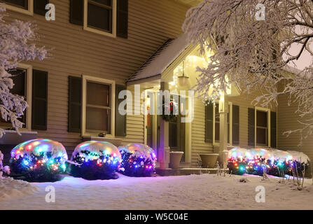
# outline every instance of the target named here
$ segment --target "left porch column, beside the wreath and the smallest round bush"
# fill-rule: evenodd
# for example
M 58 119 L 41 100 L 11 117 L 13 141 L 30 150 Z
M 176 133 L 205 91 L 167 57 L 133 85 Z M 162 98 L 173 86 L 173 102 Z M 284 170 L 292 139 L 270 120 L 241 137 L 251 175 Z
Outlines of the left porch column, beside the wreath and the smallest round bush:
M 160 90 L 169 90 L 169 83 L 161 82 Z M 159 105 L 158 105 L 159 106 Z M 158 160 L 160 169 L 169 168 L 169 123 L 160 118 L 160 148 Z

